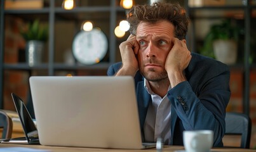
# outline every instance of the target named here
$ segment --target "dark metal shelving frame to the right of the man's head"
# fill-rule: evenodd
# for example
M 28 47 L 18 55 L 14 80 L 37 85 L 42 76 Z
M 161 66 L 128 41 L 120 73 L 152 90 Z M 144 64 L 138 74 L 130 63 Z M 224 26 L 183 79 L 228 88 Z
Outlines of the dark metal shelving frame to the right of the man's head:
M 185 4 L 187 4 L 186 9 L 187 13 L 189 14 L 191 18 L 191 26 L 192 26 L 192 32 L 191 35 L 193 37 L 192 40 L 190 40 L 189 45 L 191 45 L 192 51 L 197 52 L 198 48 L 196 47 L 196 37 L 195 37 L 195 20 L 199 19 L 217 19 L 217 18 L 227 18 L 226 16 L 205 16 L 205 15 L 196 15 L 196 11 L 229 11 L 229 10 L 236 10 L 236 11 L 243 11 L 243 20 L 244 20 L 244 27 L 245 27 L 245 44 L 243 49 L 243 63 L 238 63 L 236 65 L 231 65 L 231 70 L 241 70 L 243 72 L 243 113 L 246 115 L 250 115 L 250 70 L 252 70 L 252 67 L 255 66 L 255 64 L 250 64 L 249 62 L 249 56 L 250 56 L 250 32 L 251 32 L 251 21 L 253 20 L 251 16 L 251 12 L 253 8 L 256 8 L 255 5 L 251 4 L 250 0 L 246 0 L 245 5 L 227 5 L 227 6 L 201 6 L 201 7 L 189 7 L 188 1 L 185 0 Z

